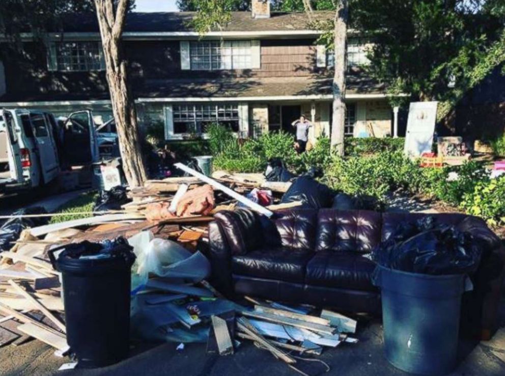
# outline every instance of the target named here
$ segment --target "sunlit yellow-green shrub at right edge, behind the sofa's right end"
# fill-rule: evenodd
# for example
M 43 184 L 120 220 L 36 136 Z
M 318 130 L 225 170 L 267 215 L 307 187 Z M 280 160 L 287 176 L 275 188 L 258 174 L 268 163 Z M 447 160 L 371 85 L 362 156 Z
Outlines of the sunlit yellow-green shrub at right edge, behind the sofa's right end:
M 468 214 L 479 216 L 490 225 L 505 223 L 505 176 L 482 180 L 463 197 L 461 207 Z

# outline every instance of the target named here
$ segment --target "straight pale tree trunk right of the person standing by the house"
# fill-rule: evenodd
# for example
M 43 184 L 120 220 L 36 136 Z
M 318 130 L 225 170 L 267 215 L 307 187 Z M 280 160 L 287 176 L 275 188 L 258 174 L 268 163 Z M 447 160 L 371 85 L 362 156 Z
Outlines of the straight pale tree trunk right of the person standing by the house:
M 334 53 L 335 73 L 333 76 L 333 121 L 331 124 L 331 150 L 344 155 L 344 126 L 346 119 L 346 40 L 347 40 L 347 0 L 340 0 L 335 12 Z

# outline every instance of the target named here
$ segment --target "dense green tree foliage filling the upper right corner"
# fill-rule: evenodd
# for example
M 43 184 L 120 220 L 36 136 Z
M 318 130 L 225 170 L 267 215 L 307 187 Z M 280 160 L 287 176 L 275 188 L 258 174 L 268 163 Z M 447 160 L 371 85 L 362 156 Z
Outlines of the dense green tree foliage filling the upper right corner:
M 455 102 L 505 60 L 504 0 L 353 0 L 375 41 L 370 73 L 391 92 Z

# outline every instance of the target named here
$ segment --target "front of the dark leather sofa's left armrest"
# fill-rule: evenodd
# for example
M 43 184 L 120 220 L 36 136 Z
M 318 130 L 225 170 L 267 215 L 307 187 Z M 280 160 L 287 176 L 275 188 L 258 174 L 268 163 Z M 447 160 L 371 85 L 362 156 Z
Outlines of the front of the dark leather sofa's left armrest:
M 232 297 L 232 253 L 220 225 L 215 221 L 209 223 L 209 259 L 214 287 L 225 296 Z

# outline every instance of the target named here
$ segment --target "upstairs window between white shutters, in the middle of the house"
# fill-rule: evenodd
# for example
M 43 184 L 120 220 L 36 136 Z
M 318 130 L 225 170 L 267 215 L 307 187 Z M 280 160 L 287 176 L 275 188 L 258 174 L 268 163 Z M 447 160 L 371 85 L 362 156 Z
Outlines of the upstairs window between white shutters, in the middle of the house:
M 192 70 L 250 69 L 251 42 L 191 42 L 189 58 Z

